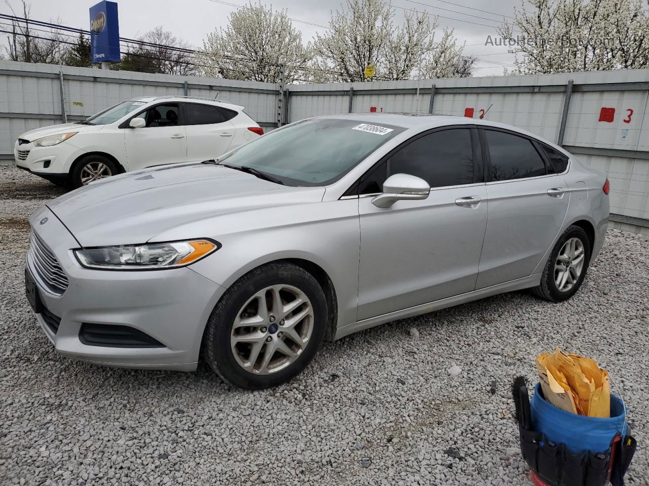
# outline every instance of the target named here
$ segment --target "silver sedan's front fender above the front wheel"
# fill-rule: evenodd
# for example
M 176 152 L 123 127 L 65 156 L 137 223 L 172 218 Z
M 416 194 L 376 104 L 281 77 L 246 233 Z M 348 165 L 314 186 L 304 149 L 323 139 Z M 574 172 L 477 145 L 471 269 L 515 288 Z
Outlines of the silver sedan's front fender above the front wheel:
M 191 270 L 228 288 L 265 263 L 283 259 L 307 260 L 322 268 L 334 285 L 337 325 L 356 321 L 360 251 L 358 200 L 268 208 L 217 219 L 219 226 L 230 227 L 231 231 L 238 227 L 238 231 L 212 235 L 221 243 L 221 248 L 191 265 Z M 264 227 L 254 227 L 259 222 L 263 222 Z M 275 224 L 267 226 L 269 222 Z

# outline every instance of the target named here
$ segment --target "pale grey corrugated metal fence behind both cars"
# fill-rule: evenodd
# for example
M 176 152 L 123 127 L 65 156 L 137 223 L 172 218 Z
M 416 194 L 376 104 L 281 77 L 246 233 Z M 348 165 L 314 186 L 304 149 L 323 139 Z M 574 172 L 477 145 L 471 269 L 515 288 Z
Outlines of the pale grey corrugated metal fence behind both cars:
M 374 110 L 484 117 L 520 126 L 606 170 L 615 226 L 649 234 L 648 69 L 282 87 L 0 61 L 0 158 L 13 157 L 19 133 L 62 121 L 62 106 L 68 121 L 77 121 L 136 96 L 217 93 L 218 99 L 245 106 L 266 129 L 317 115 Z

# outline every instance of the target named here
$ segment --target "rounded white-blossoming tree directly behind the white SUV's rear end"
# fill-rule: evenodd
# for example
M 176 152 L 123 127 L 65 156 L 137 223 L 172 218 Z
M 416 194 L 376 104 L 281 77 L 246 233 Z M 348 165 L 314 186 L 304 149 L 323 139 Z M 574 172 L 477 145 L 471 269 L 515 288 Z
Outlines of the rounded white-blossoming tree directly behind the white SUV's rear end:
M 312 58 L 286 10 L 261 3 L 232 12 L 228 27 L 208 34 L 203 46 L 197 55 L 202 74 L 226 79 L 279 82 L 283 64 L 286 82 L 293 82 Z

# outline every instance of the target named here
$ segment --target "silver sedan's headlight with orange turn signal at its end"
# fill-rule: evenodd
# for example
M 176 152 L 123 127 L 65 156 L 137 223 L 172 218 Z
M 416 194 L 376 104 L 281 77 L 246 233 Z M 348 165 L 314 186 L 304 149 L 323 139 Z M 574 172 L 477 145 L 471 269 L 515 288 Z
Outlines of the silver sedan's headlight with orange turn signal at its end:
M 75 255 L 79 263 L 87 268 L 154 270 L 188 265 L 206 257 L 220 246 L 210 240 L 191 240 L 75 249 Z

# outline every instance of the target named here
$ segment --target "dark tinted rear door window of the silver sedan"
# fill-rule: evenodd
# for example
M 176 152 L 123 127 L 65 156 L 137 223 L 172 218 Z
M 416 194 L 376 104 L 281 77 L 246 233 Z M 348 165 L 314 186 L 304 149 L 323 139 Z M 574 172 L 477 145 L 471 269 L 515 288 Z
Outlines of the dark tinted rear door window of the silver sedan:
M 545 162 L 532 141 L 518 135 L 495 130 L 485 130 L 491 167 L 492 181 L 509 181 L 545 176 Z

